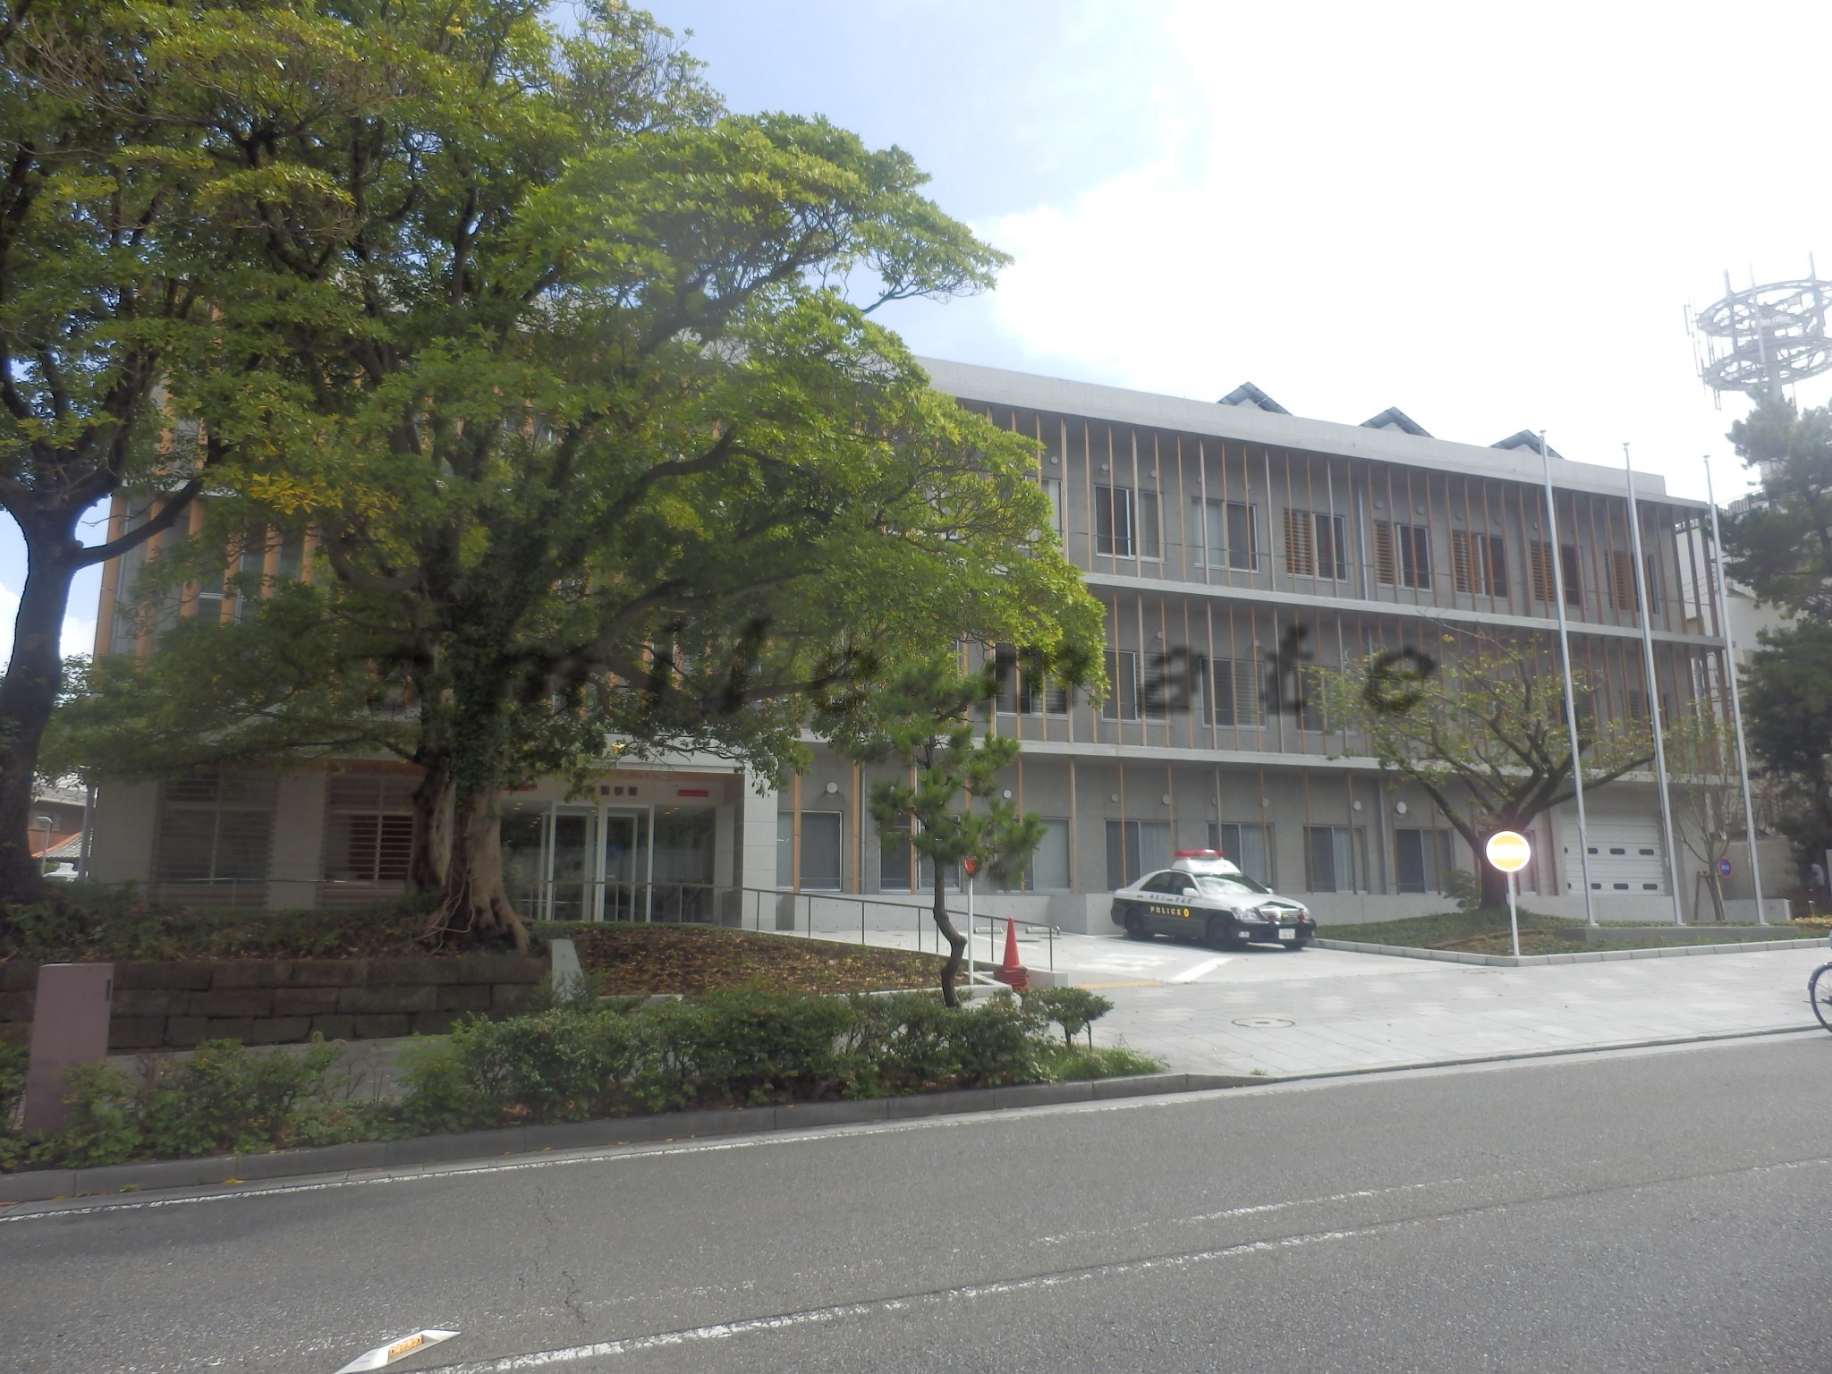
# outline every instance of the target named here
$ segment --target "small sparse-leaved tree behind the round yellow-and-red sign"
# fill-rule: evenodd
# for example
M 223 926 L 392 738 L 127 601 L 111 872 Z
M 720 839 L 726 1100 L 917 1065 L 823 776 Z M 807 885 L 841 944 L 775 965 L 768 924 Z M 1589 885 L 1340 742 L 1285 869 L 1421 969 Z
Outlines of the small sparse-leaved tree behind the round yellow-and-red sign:
M 1482 905 L 1508 901 L 1504 874 L 1480 863 L 1488 837 L 1524 830 L 1572 799 L 1572 747 L 1555 652 L 1543 643 L 1444 628 L 1436 654 L 1381 650 L 1343 669 L 1310 669 L 1330 729 L 1361 736 L 1356 753 L 1411 779 L 1478 856 Z M 1572 672 L 1585 791 L 1652 758 L 1652 731 L 1599 720 L 1590 683 Z

